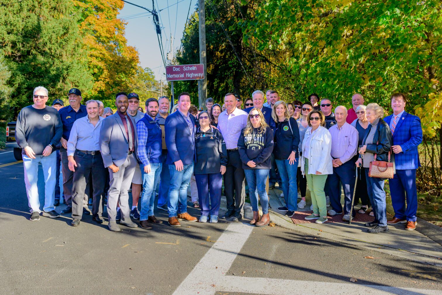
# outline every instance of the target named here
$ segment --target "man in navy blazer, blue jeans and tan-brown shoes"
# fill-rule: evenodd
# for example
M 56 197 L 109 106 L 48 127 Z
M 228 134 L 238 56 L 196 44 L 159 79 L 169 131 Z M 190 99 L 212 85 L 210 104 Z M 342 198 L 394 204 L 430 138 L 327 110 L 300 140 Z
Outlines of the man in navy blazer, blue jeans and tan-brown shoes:
M 177 110 L 168 115 L 164 125 L 168 149 L 166 164 L 169 166 L 171 181 L 168 193 L 169 225 L 173 227 L 181 226 L 178 219 L 197 221 L 197 218 L 187 213 L 187 187 L 196 157 L 195 117 L 189 113 L 190 107 L 189 93 L 182 92 L 178 96 Z

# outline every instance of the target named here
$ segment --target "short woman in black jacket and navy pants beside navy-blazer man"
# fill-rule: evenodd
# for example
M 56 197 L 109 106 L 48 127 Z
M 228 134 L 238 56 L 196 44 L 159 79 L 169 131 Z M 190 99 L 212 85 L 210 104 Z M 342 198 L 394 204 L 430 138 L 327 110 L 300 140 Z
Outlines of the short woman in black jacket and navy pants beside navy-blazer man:
M 207 222 L 210 215 L 210 222 L 216 223 L 221 204 L 221 175 L 224 174 L 227 165 L 227 149 L 221 132 L 210 127 L 207 111 L 199 114 L 198 121 L 194 175 L 201 207 L 199 222 Z

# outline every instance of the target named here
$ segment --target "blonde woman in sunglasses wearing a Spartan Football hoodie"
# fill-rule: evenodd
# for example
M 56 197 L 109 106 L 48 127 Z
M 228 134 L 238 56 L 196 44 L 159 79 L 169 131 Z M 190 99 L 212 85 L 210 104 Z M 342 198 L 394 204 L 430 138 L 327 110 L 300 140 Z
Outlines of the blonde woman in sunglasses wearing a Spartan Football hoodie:
M 270 171 L 272 150 L 273 131 L 267 125 L 259 108 L 253 108 L 248 115 L 247 126 L 241 130 L 238 139 L 238 152 L 243 162 L 253 210 L 251 225 L 267 226 L 270 223 L 266 180 Z M 261 220 L 259 220 L 258 195 L 263 208 Z

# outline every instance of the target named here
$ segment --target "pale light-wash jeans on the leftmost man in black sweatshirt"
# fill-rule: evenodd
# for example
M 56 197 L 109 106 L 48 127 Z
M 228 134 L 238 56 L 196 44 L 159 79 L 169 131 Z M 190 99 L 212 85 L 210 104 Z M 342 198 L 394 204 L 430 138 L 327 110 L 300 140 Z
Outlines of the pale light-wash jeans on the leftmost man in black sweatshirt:
M 30 212 L 40 213 L 40 199 L 38 196 L 38 164 L 42 163 L 43 176 L 45 178 L 45 206 L 43 211 L 49 212 L 55 210 L 54 191 L 55 191 L 55 170 L 57 166 L 57 154 L 51 153 L 49 156 L 35 156 L 31 159 L 22 155 L 24 178 L 26 185 L 26 194 Z

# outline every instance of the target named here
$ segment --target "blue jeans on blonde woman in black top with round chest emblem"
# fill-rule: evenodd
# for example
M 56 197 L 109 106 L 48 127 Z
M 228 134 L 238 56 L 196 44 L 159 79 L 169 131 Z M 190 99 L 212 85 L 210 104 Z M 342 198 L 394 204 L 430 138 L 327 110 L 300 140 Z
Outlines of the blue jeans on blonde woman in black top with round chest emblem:
M 278 167 L 279 176 L 282 181 L 282 192 L 284 193 L 284 201 L 289 211 L 298 210 L 298 187 L 296 183 L 296 176 L 298 172 L 298 158 L 292 165 L 289 164 L 290 160 L 278 160 L 275 159 L 276 166 Z

